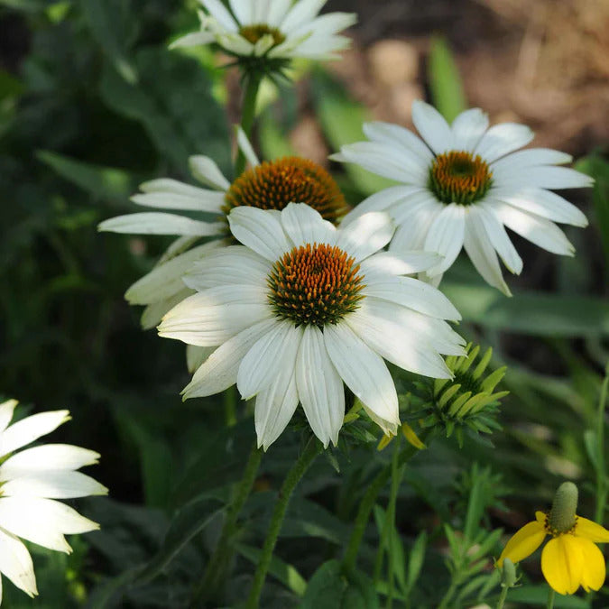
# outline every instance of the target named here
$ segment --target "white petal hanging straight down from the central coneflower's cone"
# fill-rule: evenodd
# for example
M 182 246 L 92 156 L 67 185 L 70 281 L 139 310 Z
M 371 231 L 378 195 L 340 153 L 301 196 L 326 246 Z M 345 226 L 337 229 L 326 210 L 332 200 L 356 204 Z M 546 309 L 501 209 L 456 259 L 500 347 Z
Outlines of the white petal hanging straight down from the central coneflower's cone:
M 313 433 L 324 448 L 330 440 L 336 446 L 345 418 L 345 392 L 330 361 L 324 335 L 315 326 L 307 326 L 302 335 L 296 358 L 296 386 Z

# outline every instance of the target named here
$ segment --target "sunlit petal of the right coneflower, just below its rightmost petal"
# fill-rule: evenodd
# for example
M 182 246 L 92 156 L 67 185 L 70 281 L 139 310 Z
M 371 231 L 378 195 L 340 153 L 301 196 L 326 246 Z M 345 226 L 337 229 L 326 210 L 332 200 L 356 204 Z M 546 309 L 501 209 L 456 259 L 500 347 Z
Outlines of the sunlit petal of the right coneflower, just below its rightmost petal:
M 536 216 L 545 217 L 553 222 L 573 226 L 588 226 L 586 216 L 567 199 L 555 192 L 544 189 L 496 189 L 491 191 L 492 198 L 498 198 L 515 208 L 529 211 Z

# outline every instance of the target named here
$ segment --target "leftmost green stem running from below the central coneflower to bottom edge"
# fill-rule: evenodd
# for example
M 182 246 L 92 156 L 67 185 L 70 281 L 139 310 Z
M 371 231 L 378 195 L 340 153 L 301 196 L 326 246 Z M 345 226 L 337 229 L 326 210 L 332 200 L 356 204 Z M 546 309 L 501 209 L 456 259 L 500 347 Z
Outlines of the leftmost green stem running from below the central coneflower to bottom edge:
M 233 556 L 232 537 L 235 534 L 236 521 L 239 513 L 245 505 L 247 497 L 252 492 L 256 474 L 263 458 L 263 451 L 254 446 L 245 465 L 244 476 L 239 483 L 235 498 L 226 512 L 226 520 L 220 532 L 216 548 L 208 560 L 208 567 L 205 575 L 201 578 L 192 594 L 191 606 L 200 606 L 201 601 L 206 598 L 213 598 L 217 594 L 218 588 L 222 583 L 222 576 L 226 567 Z

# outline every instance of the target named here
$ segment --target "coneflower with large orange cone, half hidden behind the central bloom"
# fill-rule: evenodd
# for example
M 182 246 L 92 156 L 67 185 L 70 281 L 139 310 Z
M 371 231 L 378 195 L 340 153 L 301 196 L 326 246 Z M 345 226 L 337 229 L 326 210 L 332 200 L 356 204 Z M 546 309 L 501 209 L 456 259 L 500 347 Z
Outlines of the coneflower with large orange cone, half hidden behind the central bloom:
M 335 223 L 346 214 L 346 201 L 337 183 L 317 163 L 296 156 L 261 162 L 241 129 L 237 131 L 237 142 L 250 169 L 232 183 L 215 161 L 207 156 L 193 156 L 189 159 L 192 175 L 210 189 L 168 178 L 144 182 L 140 186 L 142 192 L 132 201 L 168 211 L 127 214 L 99 225 L 100 231 L 115 233 L 180 235 L 155 268 L 125 292 L 125 299 L 131 304 L 146 306 L 143 328 L 154 328 L 168 310 L 194 293 L 182 281 L 182 275 L 194 262 L 218 247 L 230 245 L 226 238 L 230 236 L 226 214 L 232 208 L 253 206 L 281 210 L 291 201 L 302 201 Z M 198 213 L 201 217 L 172 213 L 180 210 L 191 215 Z M 211 240 L 196 245 L 203 238 Z M 190 346 L 187 350 L 189 370 L 192 372 L 208 353 L 208 349 Z

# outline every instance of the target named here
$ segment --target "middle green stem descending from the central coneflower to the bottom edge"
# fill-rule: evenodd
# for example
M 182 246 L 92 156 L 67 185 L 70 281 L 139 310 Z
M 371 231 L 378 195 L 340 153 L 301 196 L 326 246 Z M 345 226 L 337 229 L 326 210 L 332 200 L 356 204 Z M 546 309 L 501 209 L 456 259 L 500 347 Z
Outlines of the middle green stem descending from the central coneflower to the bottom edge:
M 260 595 L 263 591 L 264 579 L 266 573 L 269 570 L 272 559 L 272 551 L 275 549 L 277 538 L 281 531 L 281 524 L 285 517 L 285 512 L 288 509 L 288 503 L 290 503 L 291 494 L 294 492 L 296 485 L 300 482 L 300 479 L 309 469 L 311 463 L 315 457 L 318 456 L 320 451 L 320 444 L 316 438 L 310 438 L 307 446 L 302 451 L 302 454 L 298 458 L 298 461 L 291 467 L 291 470 L 285 476 L 285 480 L 281 485 L 281 490 L 277 496 L 277 502 L 275 503 L 275 509 L 272 512 L 271 524 L 269 530 L 266 532 L 266 539 L 264 540 L 263 551 L 260 555 L 258 567 L 254 574 L 254 582 L 250 590 L 250 595 L 247 599 L 245 606 L 247 609 L 256 609 L 260 602 Z

